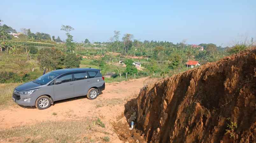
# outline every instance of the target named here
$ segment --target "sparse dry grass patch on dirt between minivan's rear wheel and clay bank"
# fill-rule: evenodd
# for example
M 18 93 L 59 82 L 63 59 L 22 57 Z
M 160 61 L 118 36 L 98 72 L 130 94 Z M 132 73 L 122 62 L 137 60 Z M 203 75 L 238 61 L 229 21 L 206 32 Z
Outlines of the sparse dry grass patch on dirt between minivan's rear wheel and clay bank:
M 95 102 L 96 108 L 104 107 L 104 106 L 115 106 L 121 105 L 124 103 L 124 99 L 122 98 L 113 98 L 113 99 L 103 99 Z

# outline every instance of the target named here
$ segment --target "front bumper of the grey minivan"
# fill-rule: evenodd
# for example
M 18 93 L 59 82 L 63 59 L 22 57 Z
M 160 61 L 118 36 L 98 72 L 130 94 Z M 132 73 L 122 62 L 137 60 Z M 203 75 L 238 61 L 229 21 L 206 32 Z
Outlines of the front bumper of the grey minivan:
M 30 98 L 30 101 L 24 101 L 26 98 Z M 13 93 L 12 100 L 19 105 L 35 106 L 35 99 L 33 99 L 31 95 L 19 95 Z

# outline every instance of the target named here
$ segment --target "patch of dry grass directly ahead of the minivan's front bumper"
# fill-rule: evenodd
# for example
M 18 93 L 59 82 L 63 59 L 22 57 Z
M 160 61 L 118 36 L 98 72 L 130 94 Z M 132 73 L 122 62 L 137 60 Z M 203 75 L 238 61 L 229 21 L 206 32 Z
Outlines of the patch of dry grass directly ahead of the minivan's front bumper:
M 18 106 L 12 101 L 12 92 L 14 88 L 21 83 L 0 84 L 0 109 L 8 106 Z

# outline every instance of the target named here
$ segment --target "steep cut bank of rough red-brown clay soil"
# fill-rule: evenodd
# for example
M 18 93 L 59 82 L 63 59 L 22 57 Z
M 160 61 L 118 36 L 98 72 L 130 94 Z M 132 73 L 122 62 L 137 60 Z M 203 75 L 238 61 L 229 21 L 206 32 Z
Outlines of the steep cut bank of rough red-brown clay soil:
M 255 54 L 245 51 L 144 86 L 137 133 L 146 142 L 255 143 Z M 225 134 L 231 122 L 234 137 Z

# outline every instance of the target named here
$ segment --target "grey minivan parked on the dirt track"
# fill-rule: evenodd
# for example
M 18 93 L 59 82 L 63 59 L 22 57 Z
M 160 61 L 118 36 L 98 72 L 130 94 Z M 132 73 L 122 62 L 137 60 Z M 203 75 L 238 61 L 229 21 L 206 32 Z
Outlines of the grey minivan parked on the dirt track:
M 95 99 L 105 90 L 104 77 L 98 69 L 75 68 L 48 72 L 34 81 L 17 86 L 12 99 L 19 105 L 46 109 L 53 102 L 87 95 Z

